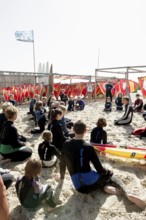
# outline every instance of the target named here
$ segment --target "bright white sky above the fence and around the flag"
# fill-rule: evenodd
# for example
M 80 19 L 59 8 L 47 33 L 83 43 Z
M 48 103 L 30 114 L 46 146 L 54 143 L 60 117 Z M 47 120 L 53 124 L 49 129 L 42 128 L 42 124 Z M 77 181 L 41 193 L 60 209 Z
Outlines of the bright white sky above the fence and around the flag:
M 15 31 L 34 30 L 36 69 L 94 74 L 99 67 L 146 65 L 145 0 L 0 0 L 0 70 L 33 71 L 32 43 Z M 132 78 L 132 76 L 131 76 Z

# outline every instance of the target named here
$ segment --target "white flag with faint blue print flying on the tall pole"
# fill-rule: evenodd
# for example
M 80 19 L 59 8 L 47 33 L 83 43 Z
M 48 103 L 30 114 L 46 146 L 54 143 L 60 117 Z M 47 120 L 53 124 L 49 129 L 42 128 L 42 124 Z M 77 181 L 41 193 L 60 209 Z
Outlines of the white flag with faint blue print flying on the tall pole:
M 19 41 L 34 42 L 33 31 L 16 31 L 15 37 Z

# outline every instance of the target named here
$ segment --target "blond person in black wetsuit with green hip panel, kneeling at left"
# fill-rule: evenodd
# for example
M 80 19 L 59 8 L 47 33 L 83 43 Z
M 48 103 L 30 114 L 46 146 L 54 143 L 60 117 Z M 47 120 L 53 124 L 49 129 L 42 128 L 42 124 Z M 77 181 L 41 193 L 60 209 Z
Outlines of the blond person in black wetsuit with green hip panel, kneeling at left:
M 15 106 L 9 106 L 5 110 L 7 121 L 3 124 L 0 134 L 0 153 L 4 159 L 11 159 L 12 161 L 23 161 L 31 156 L 32 150 L 25 147 L 22 141 L 24 137 L 18 135 L 17 129 L 13 123 L 17 118 L 18 110 Z

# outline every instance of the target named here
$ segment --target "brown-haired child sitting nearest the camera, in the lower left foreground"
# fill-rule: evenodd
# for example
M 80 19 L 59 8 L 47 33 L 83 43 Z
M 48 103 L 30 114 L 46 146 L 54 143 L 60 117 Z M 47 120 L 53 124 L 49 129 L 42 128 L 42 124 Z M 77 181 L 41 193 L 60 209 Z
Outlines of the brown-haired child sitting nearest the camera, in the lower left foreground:
M 21 205 L 27 209 L 37 208 L 43 200 L 50 207 L 55 207 L 52 187 L 40 182 L 41 168 L 40 160 L 30 159 L 25 166 L 24 176 L 17 179 L 17 196 Z

